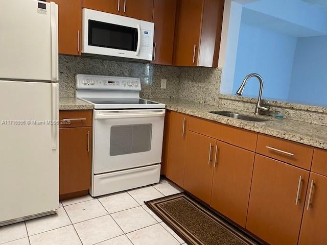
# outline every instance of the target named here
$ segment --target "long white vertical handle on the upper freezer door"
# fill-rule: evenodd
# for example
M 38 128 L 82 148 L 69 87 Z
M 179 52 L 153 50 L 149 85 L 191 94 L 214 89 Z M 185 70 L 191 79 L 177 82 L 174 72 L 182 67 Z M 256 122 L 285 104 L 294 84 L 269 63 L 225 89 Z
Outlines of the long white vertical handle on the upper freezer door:
M 58 81 L 58 5 L 50 3 L 51 10 L 51 57 L 52 74 L 51 81 Z

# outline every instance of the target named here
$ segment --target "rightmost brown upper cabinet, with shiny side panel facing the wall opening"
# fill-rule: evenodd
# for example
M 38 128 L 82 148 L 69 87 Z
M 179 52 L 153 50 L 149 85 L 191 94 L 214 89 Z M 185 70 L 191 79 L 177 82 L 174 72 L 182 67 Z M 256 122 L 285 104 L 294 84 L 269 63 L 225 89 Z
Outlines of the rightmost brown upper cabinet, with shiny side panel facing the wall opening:
M 223 10 L 224 0 L 178 0 L 174 65 L 218 66 Z

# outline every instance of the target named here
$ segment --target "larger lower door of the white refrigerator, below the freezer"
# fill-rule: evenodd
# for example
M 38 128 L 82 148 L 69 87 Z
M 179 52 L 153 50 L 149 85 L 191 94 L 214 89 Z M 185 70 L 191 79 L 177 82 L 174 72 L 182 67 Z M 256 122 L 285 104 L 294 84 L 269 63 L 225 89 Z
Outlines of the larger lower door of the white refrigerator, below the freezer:
M 0 225 L 58 208 L 57 85 L 0 81 Z

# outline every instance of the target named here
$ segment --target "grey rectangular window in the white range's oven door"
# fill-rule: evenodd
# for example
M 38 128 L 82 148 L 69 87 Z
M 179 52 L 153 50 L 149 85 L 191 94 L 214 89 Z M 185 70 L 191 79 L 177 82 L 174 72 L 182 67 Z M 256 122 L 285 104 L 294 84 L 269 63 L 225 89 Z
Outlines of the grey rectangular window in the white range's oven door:
M 152 124 L 112 126 L 110 156 L 151 150 Z

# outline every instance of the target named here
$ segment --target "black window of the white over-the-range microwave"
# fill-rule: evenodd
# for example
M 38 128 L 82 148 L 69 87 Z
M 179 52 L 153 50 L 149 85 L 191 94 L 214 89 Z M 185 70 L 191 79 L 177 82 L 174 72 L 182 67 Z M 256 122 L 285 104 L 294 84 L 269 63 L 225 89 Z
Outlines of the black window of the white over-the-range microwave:
M 137 28 L 88 20 L 88 45 L 136 52 Z

